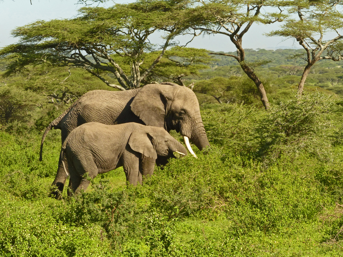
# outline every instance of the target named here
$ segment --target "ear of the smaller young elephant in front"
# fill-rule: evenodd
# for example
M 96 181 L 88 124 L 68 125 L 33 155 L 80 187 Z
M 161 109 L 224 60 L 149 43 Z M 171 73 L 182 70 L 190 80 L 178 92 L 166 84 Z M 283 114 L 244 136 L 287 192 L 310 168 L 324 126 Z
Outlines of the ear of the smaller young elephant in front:
M 129 145 L 132 150 L 140 152 L 146 157 L 157 159 L 156 151 L 151 143 L 149 132 L 144 128 L 134 130 L 129 137 Z

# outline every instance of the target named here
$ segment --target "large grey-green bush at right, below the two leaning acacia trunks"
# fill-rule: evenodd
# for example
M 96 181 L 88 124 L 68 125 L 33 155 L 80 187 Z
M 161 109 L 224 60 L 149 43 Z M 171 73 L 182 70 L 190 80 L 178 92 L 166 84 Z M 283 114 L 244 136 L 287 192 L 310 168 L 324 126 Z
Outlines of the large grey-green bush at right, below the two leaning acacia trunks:
M 307 151 L 319 156 L 329 148 L 327 128 L 332 100 L 325 95 L 303 94 L 273 107 L 256 128 L 260 143 L 257 156 L 278 158 Z

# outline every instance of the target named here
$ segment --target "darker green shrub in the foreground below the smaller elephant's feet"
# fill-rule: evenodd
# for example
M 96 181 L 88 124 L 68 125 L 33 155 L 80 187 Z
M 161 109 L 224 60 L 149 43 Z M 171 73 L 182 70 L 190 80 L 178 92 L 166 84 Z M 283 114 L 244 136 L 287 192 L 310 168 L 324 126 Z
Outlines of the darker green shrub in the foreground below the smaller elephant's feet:
M 114 247 L 129 239 L 139 238 L 142 213 L 134 201 L 135 190 L 108 191 L 101 183 L 94 191 L 70 198 L 66 208 L 55 215 L 58 222 L 83 226 L 94 223 L 103 228 L 103 233 Z

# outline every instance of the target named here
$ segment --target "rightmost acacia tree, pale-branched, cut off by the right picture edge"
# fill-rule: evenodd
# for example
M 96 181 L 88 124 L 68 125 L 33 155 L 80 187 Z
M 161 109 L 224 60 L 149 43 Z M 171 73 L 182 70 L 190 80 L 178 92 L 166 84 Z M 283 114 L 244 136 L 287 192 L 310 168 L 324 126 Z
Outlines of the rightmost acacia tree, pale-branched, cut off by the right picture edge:
M 294 38 L 305 49 L 306 53 L 293 56 L 307 62 L 298 85 L 300 95 L 304 90 L 307 75 L 317 61 L 342 59 L 341 39 L 343 36 L 340 34 L 343 27 L 343 13 L 340 11 L 342 8 L 341 1 L 291 1 L 287 8 L 288 13 L 295 15 L 290 16 L 292 19 L 287 19 L 281 29 L 267 34 Z M 332 37 L 332 33 L 336 36 Z M 325 50 L 327 50 L 327 56 L 324 56 Z

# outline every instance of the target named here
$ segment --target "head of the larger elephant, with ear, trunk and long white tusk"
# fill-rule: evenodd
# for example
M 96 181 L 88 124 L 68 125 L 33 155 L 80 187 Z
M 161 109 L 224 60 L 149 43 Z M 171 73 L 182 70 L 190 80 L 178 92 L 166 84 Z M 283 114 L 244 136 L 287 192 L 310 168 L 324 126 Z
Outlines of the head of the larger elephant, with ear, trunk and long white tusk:
M 210 146 L 201 120 L 199 102 L 193 91 L 184 86 L 151 84 L 139 90 L 131 103 L 132 112 L 145 125 L 176 130 L 195 156 L 189 139 L 202 150 Z

